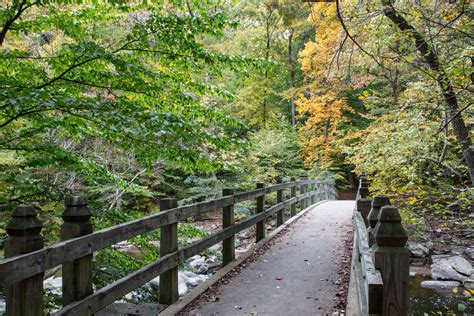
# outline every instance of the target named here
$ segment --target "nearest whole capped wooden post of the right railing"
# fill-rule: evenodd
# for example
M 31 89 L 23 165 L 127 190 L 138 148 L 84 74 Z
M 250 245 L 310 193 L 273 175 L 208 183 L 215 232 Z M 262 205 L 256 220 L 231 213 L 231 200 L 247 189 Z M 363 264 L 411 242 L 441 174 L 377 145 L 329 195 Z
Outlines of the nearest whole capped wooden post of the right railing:
M 374 265 L 383 280 L 383 315 L 408 314 L 409 253 L 408 235 L 398 209 L 384 206 L 374 229 Z

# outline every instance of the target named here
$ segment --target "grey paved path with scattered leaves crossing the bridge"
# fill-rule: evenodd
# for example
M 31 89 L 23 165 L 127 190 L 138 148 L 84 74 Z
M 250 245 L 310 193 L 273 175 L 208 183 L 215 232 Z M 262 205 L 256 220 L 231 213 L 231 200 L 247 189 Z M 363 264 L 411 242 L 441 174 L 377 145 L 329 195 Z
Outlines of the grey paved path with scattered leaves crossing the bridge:
M 313 207 L 240 274 L 221 285 L 198 315 L 319 315 L 336 311 L 340 251 L 354 201 Z

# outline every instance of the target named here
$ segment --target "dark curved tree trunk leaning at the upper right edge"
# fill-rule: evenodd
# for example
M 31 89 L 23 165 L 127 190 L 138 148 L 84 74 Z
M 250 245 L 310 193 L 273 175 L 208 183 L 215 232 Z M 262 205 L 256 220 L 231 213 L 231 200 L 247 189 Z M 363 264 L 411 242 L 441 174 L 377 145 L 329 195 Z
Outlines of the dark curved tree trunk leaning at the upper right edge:
M 428 45 L 423 36 L 421 36 L 421 34 L 415 30 L 415 28 L 409 24 L 400 13 L 397 12 L 392 4 L 392 0 L 382 0 L 382 5 L 385 16 L 389 18 L 401 31 L 403 31 L 415 41 L 418 51 L 423 56 L 430 69 L 434 72 L 436 81 L 438 82 L 438 85 L 443 93 L 444 100 L 448 105 L 448 111 L 451 116 L 451 125 L 453 127 L 454 134 L 456 135 L 458 144 L 461 147 L 464 162 L 471 178 L 471 183 L 474 185 L 474 152 L 471 149 L 472 142 L 469 138 L 469 132 L 467 130 L 466 124 L 464 123 L 464 119 L 459 112 L 456 92 L 451 85 L 448 75 L 440 65 L 437 53 L 432 47 Z

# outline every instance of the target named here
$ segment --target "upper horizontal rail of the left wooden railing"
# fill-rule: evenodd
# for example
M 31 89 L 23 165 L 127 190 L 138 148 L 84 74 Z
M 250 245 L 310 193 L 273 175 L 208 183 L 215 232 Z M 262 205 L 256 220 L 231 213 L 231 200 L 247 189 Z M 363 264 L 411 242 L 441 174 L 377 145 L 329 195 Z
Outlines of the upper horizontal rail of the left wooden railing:
M 237 193 L 210 201 L 180 206 L 137 220 L 108 227 L 92 234 L 63 241 L 40 250 L 7 258 L 0 262 L 0 284 L 11 284 L 54 268 L 64 262 L 92 254 L 123 240 L 147 233 L 163 225 L 202 215 L 225 206 L 253 200 L 265 193 L 300 185 L 302 181 L 287 182 L 264 189 Z M 305 180 L 304 182 L 308 182 Z M 66 255 L 67 254 L 67 255 Z

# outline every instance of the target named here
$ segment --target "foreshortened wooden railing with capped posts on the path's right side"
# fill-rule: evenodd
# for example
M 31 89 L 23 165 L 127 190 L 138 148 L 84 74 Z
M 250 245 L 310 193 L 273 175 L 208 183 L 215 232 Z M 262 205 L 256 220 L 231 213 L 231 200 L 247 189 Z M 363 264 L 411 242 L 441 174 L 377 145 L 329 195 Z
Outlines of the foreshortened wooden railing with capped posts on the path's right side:
M 361 177 L 354 210 L 352 280 L 358 315 L 408 314 L 409 257 L 407 234 L 396 207 L 386 196 L 368 198 Z

